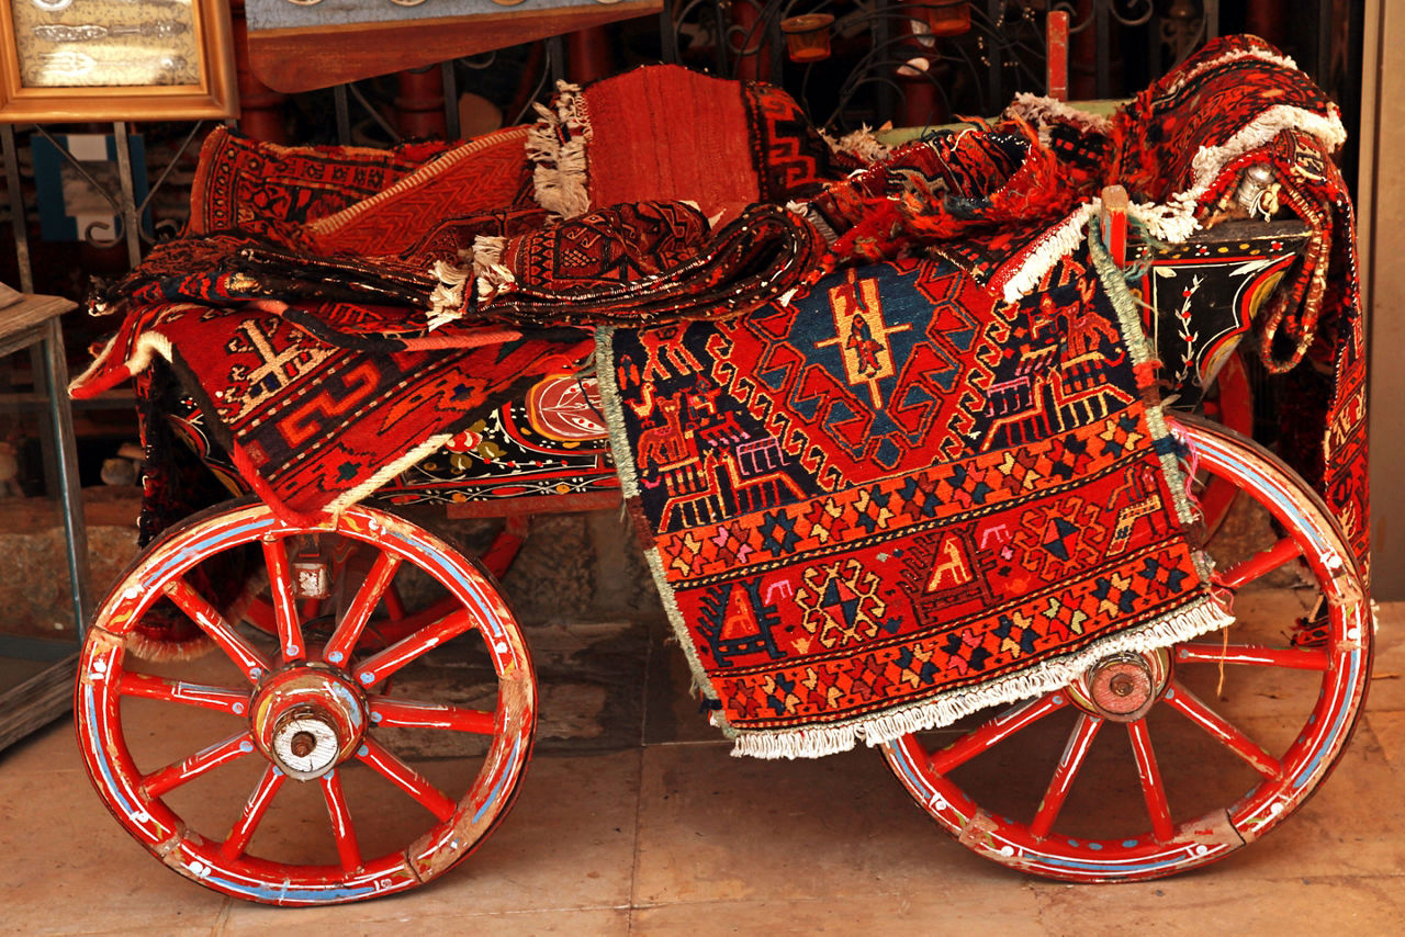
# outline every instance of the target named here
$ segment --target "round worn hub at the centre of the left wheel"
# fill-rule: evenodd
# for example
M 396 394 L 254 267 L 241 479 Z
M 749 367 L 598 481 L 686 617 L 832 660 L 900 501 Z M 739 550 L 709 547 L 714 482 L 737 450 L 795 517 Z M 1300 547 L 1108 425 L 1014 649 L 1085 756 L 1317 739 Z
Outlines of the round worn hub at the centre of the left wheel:
M 365 697 L 326 664 L 295 664 L 260 681 L 250 722 L 268 760 L 288 777 L 311 781 L 357 750 L 367 725 Z

